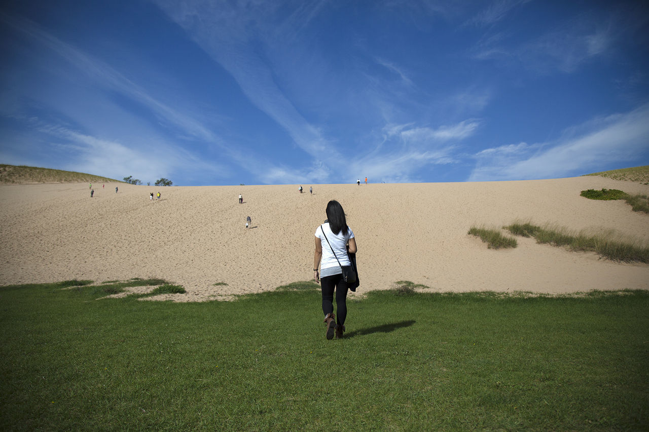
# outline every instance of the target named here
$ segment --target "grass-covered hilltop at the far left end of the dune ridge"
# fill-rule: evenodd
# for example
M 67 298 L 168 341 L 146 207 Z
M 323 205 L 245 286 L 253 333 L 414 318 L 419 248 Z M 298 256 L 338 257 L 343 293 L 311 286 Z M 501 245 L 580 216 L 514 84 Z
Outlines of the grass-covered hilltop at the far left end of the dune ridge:
M 75 173 L 25 165 L 0 164 L 0 184 L 38 184 L 38 183 L 123 183 L 113 178 L 93 174 Z

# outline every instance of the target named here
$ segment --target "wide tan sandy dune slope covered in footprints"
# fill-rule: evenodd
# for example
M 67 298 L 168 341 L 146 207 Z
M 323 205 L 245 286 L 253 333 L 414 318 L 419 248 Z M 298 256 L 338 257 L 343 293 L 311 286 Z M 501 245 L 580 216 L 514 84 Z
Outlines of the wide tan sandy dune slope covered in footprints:
M 96 186 L 96 185 L 95 185 Z M 649 216 L 622 201 L 580 197 L 602 187 L 649 187 L 596 176 L 524 182 L 149 187 L 0 186 L 0 284 L 73 278 L 164 278 L 206 300 L 312 277 L 313 233 L 337 199 L 358 243 L 360 293 L 398 280 L 436 291 L 649 289 L 649 265 L 620 264 L 521 239 L 489 250 L 473 224 L 515 219 L 617 228 L 649 243 Z M 160 190 L 160 201 L 149 192 Z M 238 204 L 242 193 L 244 204 Z M 252 229 L 245 230 L 245 219 Z M 215 282 L 228 285 L 214 286 Z

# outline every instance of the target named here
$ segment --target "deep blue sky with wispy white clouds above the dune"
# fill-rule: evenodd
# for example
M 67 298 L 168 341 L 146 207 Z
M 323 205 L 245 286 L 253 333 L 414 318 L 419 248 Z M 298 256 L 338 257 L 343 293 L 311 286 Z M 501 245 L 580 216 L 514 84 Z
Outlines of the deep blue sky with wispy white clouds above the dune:
M 0 50 L 0 163 L 181 186 L 649 165 L 641 1 L 5 1 Z

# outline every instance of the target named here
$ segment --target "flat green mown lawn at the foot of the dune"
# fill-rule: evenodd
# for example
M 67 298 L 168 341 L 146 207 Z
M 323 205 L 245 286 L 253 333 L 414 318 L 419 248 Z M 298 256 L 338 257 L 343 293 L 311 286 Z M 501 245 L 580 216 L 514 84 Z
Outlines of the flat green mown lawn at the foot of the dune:
M 0 288 L 3 430 L 649 428 L 646 291 L 370 292 L 326 341 L 313 283 L 187 304 L 63 285 Z

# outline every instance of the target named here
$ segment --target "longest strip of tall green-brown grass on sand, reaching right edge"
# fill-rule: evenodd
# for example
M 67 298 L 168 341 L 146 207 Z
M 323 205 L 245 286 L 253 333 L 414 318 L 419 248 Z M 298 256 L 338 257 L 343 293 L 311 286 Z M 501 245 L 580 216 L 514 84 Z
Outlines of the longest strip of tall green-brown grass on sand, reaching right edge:
M 530 222 L 514 222 L 506 226 L 514 235 L 534 237 L 537 243 L 565 246 L 570 250 L 596 252 L 600 256 L 621 262 L 649 263 L 649 247 L 637 241 L 626 239 L 615 231 L 572 232 L 560 226 L 533 225 Z

